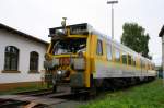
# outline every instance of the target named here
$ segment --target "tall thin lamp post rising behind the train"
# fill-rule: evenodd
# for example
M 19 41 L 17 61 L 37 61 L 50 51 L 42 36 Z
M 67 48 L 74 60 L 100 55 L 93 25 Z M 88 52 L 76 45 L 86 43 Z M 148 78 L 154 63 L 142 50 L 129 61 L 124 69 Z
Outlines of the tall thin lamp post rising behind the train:
M 112 39 L 114 39 L 114 8 L 113 5 L 118 3 L 118 1 L 107 1 L 107 4 L 112 4 Z

